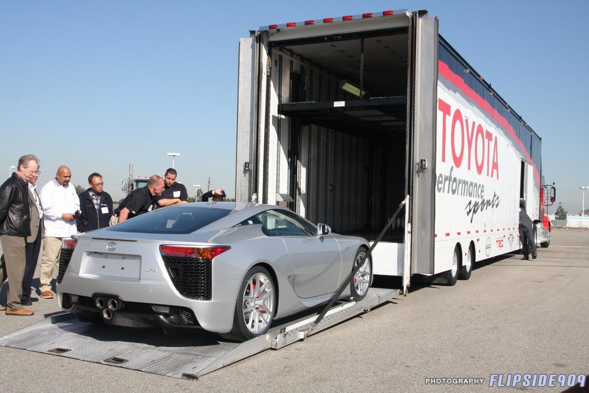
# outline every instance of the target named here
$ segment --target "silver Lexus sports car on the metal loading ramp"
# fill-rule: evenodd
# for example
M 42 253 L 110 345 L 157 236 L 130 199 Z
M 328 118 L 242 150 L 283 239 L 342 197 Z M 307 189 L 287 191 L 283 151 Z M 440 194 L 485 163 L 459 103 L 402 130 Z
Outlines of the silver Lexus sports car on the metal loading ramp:
M 181 204 L 64 239 L 57 293 L 80 321 L 244 341 L 327 302 L 366 250 L 282 207 Z M 363 298 L 371 280 L 367 257 L 342 297 Z

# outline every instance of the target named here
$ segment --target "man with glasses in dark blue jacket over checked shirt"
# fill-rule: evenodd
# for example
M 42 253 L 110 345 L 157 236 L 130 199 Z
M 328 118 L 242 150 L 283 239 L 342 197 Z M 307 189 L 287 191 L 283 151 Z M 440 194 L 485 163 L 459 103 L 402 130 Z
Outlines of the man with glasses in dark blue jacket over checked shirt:
M 80 217 L 77 218 L 78 231 L 105 228 L 109 226 L 112 216 L 112 198 L 102 189 L 104 182 L 100 173 L 88 176 L 89 189 L 82 191 L 80 198 Z

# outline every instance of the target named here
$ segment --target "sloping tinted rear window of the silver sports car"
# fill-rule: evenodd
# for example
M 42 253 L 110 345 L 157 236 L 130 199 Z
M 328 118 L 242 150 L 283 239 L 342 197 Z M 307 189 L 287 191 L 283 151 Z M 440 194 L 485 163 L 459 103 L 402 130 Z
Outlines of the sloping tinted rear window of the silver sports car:
M 173 207 L 158 209 L 124 221 L 107 230 L 131 233 L 186 234 L 201 229 L 233 212 L 210 207 Z

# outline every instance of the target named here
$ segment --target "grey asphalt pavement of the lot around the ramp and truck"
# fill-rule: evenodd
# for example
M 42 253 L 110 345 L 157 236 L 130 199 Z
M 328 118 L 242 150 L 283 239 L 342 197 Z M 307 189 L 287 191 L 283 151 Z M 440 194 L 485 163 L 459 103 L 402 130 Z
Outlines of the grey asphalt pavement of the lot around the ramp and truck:
M 494 390 L 489 379 L 498 375 L 503 382 L 525 373 L 587 375 L 589 230 L 554 229 L 538 259 L 520 258 L 477 263 L 471 279 L 454 287 L 414 282 L 406 297 L 197 381 L 0 347 L 0 391 L 477 392 Z M 0 292 L 5 303 L 6 284 Z M 0 313 L 0 336 L 61 312 L 57 299 L 39 298 L 29 308 L 35 315 Z M 426 378 L 440 384 L 426 384 Z M 484 382 L 454 385 L 442 378 Z M 564 389 L 520 383 L 499 391 Z

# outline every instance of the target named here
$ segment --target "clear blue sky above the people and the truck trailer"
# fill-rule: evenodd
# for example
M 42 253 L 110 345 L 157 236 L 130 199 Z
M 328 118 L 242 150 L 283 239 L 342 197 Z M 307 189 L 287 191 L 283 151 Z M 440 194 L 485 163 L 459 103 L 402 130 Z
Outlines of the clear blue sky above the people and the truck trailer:
M 542 172 L 571 214 L 589 186 L 589 1 L 0 0 L 0 169 L 37 154 L 39 185 L 163 174 L 234 196 L 237 51 L 263 25 L 426 9 L 542 137 Z M 514 169 L 519 170 L 519 169 Z M 589 206 L 589 193 L 585 206 Z M 549 212 L 554 213 L 555 206 Z

